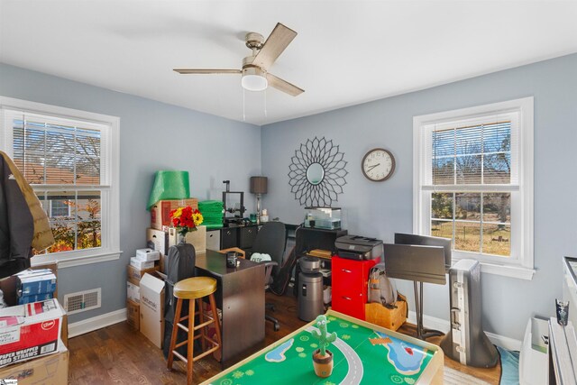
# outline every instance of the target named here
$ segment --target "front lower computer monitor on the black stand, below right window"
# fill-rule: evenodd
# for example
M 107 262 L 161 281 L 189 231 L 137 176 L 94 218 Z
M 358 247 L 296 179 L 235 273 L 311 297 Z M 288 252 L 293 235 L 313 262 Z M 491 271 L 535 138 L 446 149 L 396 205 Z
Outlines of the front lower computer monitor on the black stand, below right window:
M 383 244 L 385 270 L 389 278 L 444 285 L 444 249 L 441 246 Z

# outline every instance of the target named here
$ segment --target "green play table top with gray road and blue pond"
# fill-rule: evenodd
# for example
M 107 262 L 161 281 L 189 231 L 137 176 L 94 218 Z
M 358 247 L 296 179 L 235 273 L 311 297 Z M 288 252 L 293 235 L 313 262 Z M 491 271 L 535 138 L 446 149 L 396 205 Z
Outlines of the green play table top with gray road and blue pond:
M 443 351 L 433 344 L 329 310 L 327 331 L 336 332 L 330 377 L 317 377 L 318 348 L 311 322 L 205 384 L 429 384 L 443 383 Z

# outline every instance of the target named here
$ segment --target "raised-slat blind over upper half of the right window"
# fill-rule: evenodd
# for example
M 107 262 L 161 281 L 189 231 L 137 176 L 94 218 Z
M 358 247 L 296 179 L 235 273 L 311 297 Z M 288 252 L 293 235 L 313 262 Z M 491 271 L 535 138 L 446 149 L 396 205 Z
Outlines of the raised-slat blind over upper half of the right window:
M 517 190 L 517 130 L 517 113 L 426 125 L 423 189 Z

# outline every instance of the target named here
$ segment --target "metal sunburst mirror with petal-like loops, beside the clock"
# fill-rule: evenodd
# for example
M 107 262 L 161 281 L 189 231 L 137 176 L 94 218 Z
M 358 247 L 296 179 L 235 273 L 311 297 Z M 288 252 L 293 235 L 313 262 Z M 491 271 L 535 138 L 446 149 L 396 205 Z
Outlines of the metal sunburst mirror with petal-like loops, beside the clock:
M 295 150 L 289 165 L 290 191 L 306 206 L 332 206 L 343 194 L 347 162 L 339 146 L 325 138 L 310 140 Z

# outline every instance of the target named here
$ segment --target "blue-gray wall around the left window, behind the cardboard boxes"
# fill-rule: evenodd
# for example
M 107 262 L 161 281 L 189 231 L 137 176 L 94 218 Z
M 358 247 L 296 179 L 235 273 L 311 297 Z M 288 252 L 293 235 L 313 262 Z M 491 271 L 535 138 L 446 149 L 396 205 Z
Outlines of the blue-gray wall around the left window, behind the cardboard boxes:
M 146 246 L 146 211 L 157 170 L 188 170 L 190 190 L 200 200 L 220 198 L 222 181 L 248 193 L 249 177 L 261 172 L 261 128 L 173 105 L 87 86 L 0 63 L 0 95 L 120 117 L 120 248 L 119 261 L 59 271 L 59 296 L 102 288 L 102 307 L 70 316 L 69 322 L 125 307 L 126 264 Z M 234 139 L 234 140 L 233 140 Z M 234 142 L 234 160 L 225 156 Z

